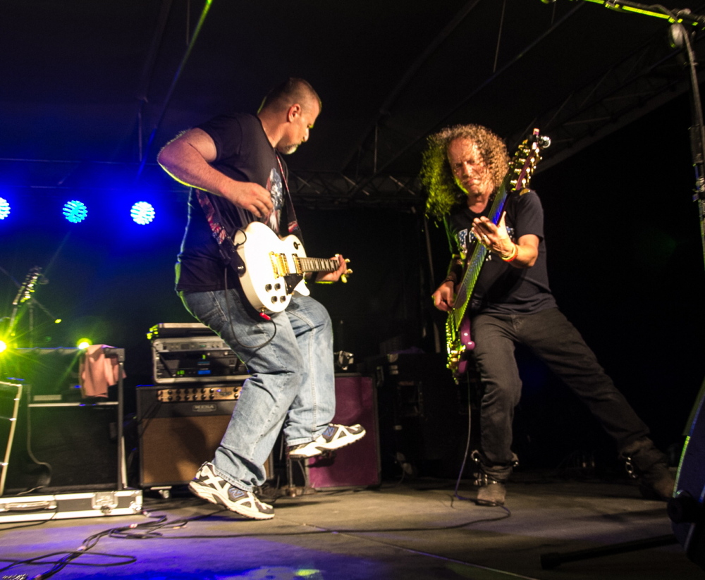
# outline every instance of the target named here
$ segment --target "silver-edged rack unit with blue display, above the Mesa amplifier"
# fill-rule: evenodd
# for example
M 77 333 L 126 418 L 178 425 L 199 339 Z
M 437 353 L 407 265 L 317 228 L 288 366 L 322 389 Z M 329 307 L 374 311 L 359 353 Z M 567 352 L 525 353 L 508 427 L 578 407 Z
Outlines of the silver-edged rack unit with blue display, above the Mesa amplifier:
M 247 367 L 217 335 L 152 340 L 154 383 L 243 381 Z

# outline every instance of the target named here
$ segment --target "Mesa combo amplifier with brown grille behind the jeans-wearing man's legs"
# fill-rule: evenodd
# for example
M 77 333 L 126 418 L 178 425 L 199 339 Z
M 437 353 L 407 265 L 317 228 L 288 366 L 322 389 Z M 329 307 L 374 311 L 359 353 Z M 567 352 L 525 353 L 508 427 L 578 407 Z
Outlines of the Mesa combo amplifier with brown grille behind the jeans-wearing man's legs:
M 185 485 L 213 459 L 241 386 L 137 387 L 140 487 Z

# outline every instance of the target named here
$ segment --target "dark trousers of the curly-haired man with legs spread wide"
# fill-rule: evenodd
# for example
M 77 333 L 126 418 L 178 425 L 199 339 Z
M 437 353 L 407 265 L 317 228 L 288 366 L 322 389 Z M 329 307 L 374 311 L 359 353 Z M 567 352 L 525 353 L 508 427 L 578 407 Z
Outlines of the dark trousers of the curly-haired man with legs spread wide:
M 483 463 L 490 475 L 505 479 L 513 458 L 512 422 L 522 390 L 515 343 L 527 345 L 580 397 L 618 450 L 648 435 L 649 428 L 557 308 L 535 314 L 479 314 L 472 319 L 472 335 L 484 389 L 480 408 Z

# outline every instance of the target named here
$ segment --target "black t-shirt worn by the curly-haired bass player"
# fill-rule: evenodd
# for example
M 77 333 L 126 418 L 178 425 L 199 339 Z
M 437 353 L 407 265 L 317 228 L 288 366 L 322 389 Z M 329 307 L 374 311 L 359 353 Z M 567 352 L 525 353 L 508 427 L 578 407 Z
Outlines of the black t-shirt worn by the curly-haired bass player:
M 505 223 L 512 240 L 517 242 L 522 235 L 536 235 L 539 237 L 539 257 L 531 268 L 515 268 L 496 254 L 488 254 L 472 293 L 471 314 L 530 314 L 556 307 L 548 287 L 544 209 L 539 196 L 533 191 L 525 195 L 510 195 L 504 209 L 507 212 Z M 463 259 L 475 243 L 470 232 L 472 220 L 481 215 L 486 213 L 475 214 L 467 204 L 462 204 L 447 218 L 451 246 Z

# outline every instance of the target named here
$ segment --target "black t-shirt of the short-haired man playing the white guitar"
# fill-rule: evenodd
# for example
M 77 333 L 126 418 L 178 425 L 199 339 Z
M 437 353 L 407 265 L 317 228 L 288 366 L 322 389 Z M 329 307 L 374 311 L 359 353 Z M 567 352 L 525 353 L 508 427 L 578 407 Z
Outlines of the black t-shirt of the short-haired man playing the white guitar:
M 270 192 L 274 212 L 267 225 L 278 233 L 286 196 L 280 168 L 286 173 L 286 166 L 278 160 L 259 118 L 233 113 L 215 117 L 199 128 L 207 132 L 216 145 L 214 168 L 234 180 L 258 183 Z M 238 228 L 255 221 L 255 216 L 217 195 L 194 188 L 190 191 L 188 223 L 176 264 L 176 290 L 223 290 L 225 268 L 229 269 L 228 285 L 238 276 L 229 264 L 226 266 L 199 197 L 204 197 L 205 203 L 212 207 L 212 220 L 230 237 Z

